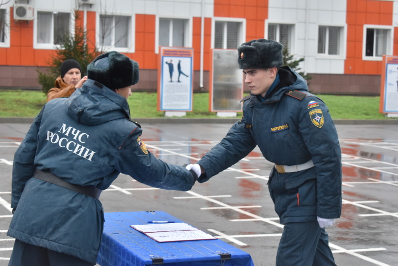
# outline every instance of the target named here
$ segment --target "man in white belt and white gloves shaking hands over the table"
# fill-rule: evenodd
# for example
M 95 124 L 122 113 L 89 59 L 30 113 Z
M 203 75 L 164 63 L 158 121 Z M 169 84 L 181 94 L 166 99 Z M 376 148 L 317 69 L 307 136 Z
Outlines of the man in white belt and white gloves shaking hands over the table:
M 197 164 L 199 182 L 236 164 L 256 145 L 275 164 L 268 187 L 284 231 L 277 266 L 335 266 L 325 227 L 341 214 L 341 149 L 328 108 L 283 65 L 282 45 L 251 40 L 238 47 L 251 94 L 243 117 Z

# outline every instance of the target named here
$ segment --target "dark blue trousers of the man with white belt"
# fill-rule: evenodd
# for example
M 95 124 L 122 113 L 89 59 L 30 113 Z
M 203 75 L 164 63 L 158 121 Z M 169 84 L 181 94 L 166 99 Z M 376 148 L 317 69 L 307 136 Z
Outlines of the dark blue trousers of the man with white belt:
M 329 236 L 318 222 L 287 223 L 277 252 L 277 266 L 336 266 Z

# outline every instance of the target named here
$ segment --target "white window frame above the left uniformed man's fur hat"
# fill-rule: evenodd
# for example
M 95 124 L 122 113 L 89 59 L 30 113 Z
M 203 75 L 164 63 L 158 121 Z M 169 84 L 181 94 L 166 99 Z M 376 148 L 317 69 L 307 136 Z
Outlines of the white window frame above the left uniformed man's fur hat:
M 130 18 L 130 31 L 129 31 L 129 37 L 128 37 L 128 47 L 114 47 L 113 46 L 102 46 L 100 45 L 100 15 L 108 15 L 108 16 L 128 16 Z M 120 53 L 134 53 L 135 52 L 135 14 L 107 14 L 103 13 L 100 14 L 99 12 L 97 13 L 97 19 L 96 19 L 96 44 L 97 44 L 97 49 L 103 50 L 103 52 L 106 51 L 116 51 Z M 114 18 L 113 18 L 114 20 Z M 112 35 L 114 36 L 114 30 L 112 29 Z M 112 36 L 112 40 L 114 40 L 114 37 Z

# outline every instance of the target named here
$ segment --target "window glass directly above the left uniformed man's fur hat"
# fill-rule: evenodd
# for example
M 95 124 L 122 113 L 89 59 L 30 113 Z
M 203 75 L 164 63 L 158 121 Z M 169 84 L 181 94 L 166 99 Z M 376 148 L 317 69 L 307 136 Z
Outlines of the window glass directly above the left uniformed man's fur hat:
M 128 48 L 130 46 L 130 17 L 100 15 L 101 46 Z

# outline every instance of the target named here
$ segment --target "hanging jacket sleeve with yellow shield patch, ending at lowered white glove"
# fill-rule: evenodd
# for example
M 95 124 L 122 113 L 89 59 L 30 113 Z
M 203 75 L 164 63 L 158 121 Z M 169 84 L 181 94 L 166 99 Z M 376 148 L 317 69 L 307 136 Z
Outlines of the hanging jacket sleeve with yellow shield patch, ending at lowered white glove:
M 326 105 L 310 97 L 319 105 L 300 111 L 299 131 L 311 154 L 316 170 L 317 216 L 339 218 L 342 204 L 341 149 L 337 131 Z

